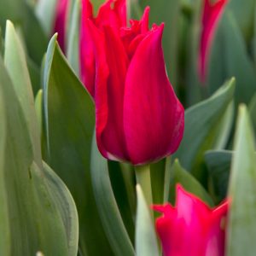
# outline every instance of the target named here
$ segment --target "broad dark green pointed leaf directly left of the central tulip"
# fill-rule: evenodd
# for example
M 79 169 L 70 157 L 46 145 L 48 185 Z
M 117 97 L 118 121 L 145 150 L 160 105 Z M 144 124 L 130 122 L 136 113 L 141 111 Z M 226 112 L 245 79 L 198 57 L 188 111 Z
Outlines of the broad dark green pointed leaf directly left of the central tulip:
M 43 105 L 44 160 L 67 184 L 78 207 L 81 253 L 111 255 L 91 187 L 94 104 L 62 55 L 55 36 L 45 58 Z

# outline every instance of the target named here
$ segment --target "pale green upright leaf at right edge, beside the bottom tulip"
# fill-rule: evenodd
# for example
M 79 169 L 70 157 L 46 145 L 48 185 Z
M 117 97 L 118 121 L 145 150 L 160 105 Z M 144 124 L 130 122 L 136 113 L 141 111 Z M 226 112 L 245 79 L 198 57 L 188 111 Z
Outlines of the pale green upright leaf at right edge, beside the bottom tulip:
M 247 107 L 241 105 L 236 125 L 228 197 L 227 256 L 254 255 L 256 251 L 256 159 L 253 127 Z

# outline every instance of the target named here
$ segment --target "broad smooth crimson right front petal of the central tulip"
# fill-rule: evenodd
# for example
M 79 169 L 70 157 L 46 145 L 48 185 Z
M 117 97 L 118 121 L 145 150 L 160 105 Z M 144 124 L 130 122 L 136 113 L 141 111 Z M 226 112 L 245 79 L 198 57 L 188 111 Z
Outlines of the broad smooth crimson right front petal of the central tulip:
M 125 81 L 125 139 L 134 165 L 172 154 L 183 137 L 183 106 L 166 75 L 163 25 L 138 45 Z

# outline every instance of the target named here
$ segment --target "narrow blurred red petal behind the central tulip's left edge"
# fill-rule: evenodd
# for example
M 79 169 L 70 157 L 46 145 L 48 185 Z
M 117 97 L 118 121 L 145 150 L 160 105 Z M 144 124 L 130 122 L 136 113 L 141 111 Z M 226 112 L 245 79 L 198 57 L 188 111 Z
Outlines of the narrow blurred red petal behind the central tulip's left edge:
M 92 5 L 89 0 L 82 1 L 80 30 L 80 75 L 85 88 L 94 97 L 95 94 L 95 55 L 88 19 L 93 20 Z

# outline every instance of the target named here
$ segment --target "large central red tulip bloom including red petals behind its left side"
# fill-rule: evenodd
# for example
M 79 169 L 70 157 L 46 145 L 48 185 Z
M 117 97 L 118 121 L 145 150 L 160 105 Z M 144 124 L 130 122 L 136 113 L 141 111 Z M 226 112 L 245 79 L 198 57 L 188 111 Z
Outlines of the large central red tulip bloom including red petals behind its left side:
M 96 18 L 83 1 L 81 77 L 96 103 L 96 141 L 109 160 L 133 165 L 177 150 L 184 111 L 166 75 L 161 47 L 164 25 L 142 20 L 126 26 L 125 0 L 104 3 Z

